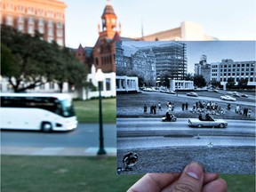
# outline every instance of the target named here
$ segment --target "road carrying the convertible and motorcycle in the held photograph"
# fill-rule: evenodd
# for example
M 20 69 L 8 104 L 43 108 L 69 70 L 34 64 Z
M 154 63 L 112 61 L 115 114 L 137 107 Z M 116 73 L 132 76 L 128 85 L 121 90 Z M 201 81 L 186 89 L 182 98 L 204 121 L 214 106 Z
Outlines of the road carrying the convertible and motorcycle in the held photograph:
M 254 121 L 227 120 L 227 128 L 191 128 L 188 119 L 117 118 L 117 148 L 168 146 L 255 146 Z M 211 146 L 210 146 L 211 147 Z

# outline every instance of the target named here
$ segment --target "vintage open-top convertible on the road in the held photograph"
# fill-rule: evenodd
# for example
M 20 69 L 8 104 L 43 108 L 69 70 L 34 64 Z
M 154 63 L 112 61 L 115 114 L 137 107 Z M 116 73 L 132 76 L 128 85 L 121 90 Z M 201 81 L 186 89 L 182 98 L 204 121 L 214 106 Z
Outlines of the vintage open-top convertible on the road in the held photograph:
M 220 127 L 225 128 L 228 126 L 228 122 L 223 119 L 211 119 L 211 120 L 199 120 L 198 118 L 189 118 L 188 119 L 189 126 L 196 127 Z

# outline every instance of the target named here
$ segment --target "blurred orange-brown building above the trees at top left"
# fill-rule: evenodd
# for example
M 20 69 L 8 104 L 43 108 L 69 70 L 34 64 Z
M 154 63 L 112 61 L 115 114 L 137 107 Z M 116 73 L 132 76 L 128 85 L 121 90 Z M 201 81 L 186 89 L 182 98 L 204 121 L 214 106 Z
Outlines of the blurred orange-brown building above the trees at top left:
M 47 42 L 65 46 L 65 9 L 59 0 L 1 0 L 1 24 L 34 35 L 37 30 Z

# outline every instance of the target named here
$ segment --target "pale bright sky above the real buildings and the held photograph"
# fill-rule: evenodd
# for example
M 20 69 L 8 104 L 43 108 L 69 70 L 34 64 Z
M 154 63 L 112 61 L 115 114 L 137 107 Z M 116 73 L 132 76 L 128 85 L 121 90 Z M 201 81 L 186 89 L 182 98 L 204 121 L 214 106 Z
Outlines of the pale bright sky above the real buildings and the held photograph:
M 101 15 L 107 1 L 64 2 L 68 6 L 66 46 L 94 46 L 99 37 L 98 23 L 101 25 Z M 179 28 L 181 22 L 189 20 L 201 24 L 205 34 L 220 40 L 256 40 L 255 0 L 111 0 L 110 4 L 116 13 L 117 22 L 121 22 L 121 36 L 124 37 L 140 37 L 141 26 L 147 36 Z M 207 54 L 205 50 L 202 53 Z M 200 55 L 195 55 L 196 62 Z M 208 58 L 210 61 L 211 56 Z

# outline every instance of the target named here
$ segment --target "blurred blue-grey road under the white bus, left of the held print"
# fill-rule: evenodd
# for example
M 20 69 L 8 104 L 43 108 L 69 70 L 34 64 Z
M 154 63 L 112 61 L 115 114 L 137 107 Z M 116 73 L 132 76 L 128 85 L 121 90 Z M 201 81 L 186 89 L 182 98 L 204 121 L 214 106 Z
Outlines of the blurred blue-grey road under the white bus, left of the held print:
M 103 124 L 106 148 L 116 148 L 116 124 Z M 78 124 L 72 132 L 1 131 L 2 147 L 98 148 L 99 124 Z

